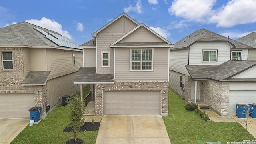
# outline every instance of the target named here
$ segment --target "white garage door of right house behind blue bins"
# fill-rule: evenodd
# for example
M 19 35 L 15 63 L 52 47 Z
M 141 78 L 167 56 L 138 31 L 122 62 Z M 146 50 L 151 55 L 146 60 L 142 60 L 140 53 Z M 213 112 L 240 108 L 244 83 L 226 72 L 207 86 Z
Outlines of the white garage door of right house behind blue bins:
M 229 114 L 236 114 L 236 104 L 256 103 L 256 90 L 230 90 Z

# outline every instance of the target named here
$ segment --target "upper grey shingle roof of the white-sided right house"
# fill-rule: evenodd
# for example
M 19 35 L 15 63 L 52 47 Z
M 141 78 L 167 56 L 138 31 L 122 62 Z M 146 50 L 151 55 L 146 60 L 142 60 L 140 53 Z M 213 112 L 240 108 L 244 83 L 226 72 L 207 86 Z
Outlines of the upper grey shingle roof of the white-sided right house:
M 251 46 L 237 42 L 220 34 L 201 29 L 176 42 L 174 48 L 171 49 L 189 48 L 195 42 L 228 42 L 233 48 L 252 48 Z

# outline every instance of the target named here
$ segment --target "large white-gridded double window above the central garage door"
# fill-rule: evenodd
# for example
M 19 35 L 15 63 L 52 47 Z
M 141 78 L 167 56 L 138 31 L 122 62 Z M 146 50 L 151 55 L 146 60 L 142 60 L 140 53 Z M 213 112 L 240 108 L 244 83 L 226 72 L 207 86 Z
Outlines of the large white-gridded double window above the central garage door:
M 153 70 L 153 49 L 131 49 L 131 70 Z

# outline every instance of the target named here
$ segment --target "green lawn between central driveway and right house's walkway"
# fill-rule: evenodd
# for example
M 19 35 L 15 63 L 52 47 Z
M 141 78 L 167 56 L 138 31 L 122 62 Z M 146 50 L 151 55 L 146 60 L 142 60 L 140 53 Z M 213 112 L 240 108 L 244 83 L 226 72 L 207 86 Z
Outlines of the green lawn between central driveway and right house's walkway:
M 255 140 L 238 122 L 203 122 L 200 115 L 185 110 L 186 102 L 169 89 L 169 116 L 163 120 L 172 144 L 199 144 L 199 141 L 242 142 Z

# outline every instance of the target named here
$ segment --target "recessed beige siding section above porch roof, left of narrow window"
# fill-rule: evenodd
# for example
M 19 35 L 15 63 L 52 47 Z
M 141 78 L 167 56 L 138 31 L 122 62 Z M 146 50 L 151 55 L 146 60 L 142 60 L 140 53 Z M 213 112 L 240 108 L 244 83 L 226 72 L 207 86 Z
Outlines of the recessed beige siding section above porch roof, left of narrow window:
M 96 68 L 96 49 L 95 48 L 84 48 L 84 67 Z

